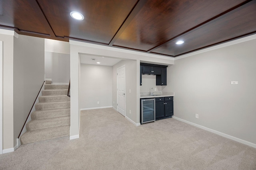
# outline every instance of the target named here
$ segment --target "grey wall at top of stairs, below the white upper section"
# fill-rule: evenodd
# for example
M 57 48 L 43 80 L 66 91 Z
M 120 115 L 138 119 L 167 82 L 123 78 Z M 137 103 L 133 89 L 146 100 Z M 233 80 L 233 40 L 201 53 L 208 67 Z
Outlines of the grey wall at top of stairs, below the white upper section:
M 70 79 L 70 55 L 45 52 L 45 78 L 53 83 L 68 83 Z

